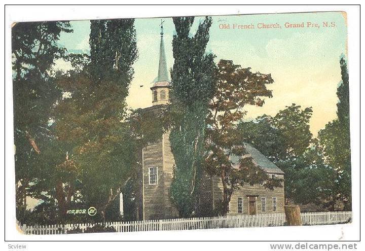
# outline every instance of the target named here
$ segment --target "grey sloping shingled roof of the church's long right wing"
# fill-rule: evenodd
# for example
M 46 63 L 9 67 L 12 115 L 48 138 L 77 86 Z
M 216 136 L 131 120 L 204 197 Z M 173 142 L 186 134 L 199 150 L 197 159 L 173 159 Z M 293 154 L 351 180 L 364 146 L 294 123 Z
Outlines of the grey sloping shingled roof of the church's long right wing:
M 284 174 L 284 172 L 279 167 L 277 167 L 277 165 L 275 165 L 268 158 L 266 158 L 259 150 L 255 149 L 254 147 L 252 147 L 250 144 L 247 143 L 244 143 L 243 145 L 246 149 L 247 157 L 251 157 L 255 165 L 261 167 L 268 173 Z M 240 157 L 237 155 L 230 156 L 230 161 L 235 166 L 239 165 L 239 159 Z

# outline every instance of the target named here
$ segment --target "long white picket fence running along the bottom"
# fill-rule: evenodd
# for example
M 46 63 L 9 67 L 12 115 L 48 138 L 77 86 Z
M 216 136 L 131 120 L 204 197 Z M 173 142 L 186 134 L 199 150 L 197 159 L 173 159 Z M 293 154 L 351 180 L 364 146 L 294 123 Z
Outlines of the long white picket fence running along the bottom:
M 351 211 L 336 212 L 305 212 L 301 213 L 303 225 L 340 224 L 351 222 Z M 262 213 L 255 215 L 235 214 L 226 217 L 205 217 L 189 219 L 149 220 L 133 222 L 107 222 L 117 232 L 158 231 L 158 230 L 189 230 L 214 228 L 245 228 L 245 227 L 274 227 L 285 225 L 284 213 Z M 79 228 L 82 232 L 96 224 L 66 224 L 48 226 L 22 225 L 24 234 L 66 234 L 67 231 Z

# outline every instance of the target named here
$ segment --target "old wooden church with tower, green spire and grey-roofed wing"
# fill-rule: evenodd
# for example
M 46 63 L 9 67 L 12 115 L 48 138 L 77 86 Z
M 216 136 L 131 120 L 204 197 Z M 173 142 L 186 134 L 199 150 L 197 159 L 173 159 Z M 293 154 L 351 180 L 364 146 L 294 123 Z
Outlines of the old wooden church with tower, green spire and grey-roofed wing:
M 158 77 L 152 91 L 152 106 L 144 110 L 156 111 L 169 103 L 170 80 L 167 70 L 166 54 L 161 24 L 160 58 Z M 271 177 L 284 178 L 284 172 L 252 146 L 245 144 L 246 151 L 253 162 L 263 168 Z M 174 158 L 171 152 L 169 132 L 161 135 L 160 140 L 142 149 L 142 220 L 178 218 L 178 211 L 170 199 L 173 179 Z M 239 157 L 232 158 L 238 165 Z M 223 185 L 219 177 L 205 175 L 202 182 L 200 202 L 207 211 L 222 200 Z M 284 211 L 284 188 L 273 191 L 263 184 L 242 185 L 232 194 L 229 214 L 257 214 Z

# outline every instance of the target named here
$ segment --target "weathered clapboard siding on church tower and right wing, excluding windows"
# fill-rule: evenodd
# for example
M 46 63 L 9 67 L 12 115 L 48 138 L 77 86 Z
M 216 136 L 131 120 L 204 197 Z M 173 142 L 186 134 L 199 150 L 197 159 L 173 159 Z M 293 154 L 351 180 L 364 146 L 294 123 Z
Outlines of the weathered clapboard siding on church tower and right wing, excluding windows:
M 150 144 L 143 150 L 143 208 L 144 220 L 172 219 L 178 217 L 178 211 L 170 199 L 170 189 L 173 179 L 175 161 L 169 141 L 170 132 L 161 135 L 160 141 Z M 157 167 L 158 184 L 149 185 L 149 168 Z M 269 173 L 270 174 L 270 173 Z M 277 174 L 283 179 L 283 175 Z M 214 201 L 222 200 L 223 184 L 220 177 L 203 174 L 199 188 L 199 213 L 208 214 L 214 208 Z M 243 185 L 236 189 L 231 197 L 229 214 L 237 214 L 237 200 L 243 200 L 243 214 L 248 214 L 247 195 L 257 196 L 256 212 L 272 213 L 272 198 L 277 198 L 275 212 L 284 211 L 284 188 L 265 189 L 261 185 Z M 261 198 L 266 197 L 266 211 L 261 210 Z

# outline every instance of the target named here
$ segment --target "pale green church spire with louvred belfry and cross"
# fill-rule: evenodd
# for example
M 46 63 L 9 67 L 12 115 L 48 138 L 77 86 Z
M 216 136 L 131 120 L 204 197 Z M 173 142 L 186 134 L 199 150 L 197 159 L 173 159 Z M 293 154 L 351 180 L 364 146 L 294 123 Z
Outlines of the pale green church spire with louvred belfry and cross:
M 158 67 L 157 81 L 151 87 L 152 90 L 152 105 L 167 104 L 169 101 L 170 81 L 167 70 L 165 45 L 163 41 L 163 22 L 161 20 L 161 40 L 160 40 L 160 60 Z

